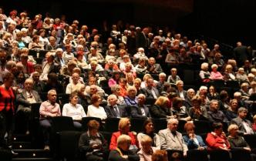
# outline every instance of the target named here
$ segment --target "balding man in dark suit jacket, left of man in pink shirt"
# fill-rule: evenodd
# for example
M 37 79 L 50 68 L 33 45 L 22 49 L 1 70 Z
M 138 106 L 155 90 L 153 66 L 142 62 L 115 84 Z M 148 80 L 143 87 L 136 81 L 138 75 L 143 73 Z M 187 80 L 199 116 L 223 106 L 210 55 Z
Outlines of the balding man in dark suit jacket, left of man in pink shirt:
M 31 112 L 30 106 L 32 103 L 42 102 L 39 93 L 32 90 L 33 84 L 34 82 L 32 79 L 25 79 L 24 89 L 22 89 L 22 92 L 17 96 L 17 102 L 19 104 L 17 112 L 25 113 L 25 121 L 27 123 L 26 134 L 29 134 L 29 116 Z

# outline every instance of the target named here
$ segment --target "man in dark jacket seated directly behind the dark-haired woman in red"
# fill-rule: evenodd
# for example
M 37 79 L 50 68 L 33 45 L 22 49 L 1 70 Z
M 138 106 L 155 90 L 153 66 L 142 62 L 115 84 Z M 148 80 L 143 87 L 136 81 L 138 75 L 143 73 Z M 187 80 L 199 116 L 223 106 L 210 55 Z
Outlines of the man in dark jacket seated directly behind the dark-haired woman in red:
M 208 119 L 211 122 L 228 122 L 224 112 L 218 109 L 219 103 L 216 99 L 210 102 L 210 111 L 207 112 Z

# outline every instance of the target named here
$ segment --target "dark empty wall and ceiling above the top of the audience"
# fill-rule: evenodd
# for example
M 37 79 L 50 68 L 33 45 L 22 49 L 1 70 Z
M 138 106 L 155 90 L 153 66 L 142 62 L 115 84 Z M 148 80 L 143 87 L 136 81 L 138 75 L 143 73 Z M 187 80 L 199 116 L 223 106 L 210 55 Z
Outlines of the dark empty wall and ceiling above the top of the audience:
M 53 16 L 67 15 L 81 24 L 99 27 L 103 20 L 163 26 L 186 34 L 202 34 L 234 45 L 255 43 L 255 0 L 5 0 L 5 11 L 16 8 Z

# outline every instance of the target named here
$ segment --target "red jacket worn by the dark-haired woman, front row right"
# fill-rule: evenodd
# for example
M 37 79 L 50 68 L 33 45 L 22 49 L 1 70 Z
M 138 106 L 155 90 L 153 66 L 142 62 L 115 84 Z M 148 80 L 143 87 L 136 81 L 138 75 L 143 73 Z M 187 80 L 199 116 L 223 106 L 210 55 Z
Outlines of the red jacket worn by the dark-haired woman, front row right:
M 207 134 L 206 143 L 209 150 L 220 149 L 220 147 L 226 149 L 231 148 L 231 145 L 229 144 L 227 137 L 224 135 L 217 136 L 215 132 L 209 132 Z

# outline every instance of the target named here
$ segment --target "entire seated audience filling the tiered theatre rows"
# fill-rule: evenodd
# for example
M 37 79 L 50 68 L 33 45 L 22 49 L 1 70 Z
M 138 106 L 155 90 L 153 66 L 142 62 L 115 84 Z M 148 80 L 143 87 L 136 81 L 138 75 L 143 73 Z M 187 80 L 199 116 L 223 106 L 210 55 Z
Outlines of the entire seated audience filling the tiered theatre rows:
M 65 15 L 30 19 L 28 12 L 5 14 L 0 8 L 0 146 L 12 148 L 20 112 L 29 135 L 31 106 L 42 102 L 39 122 L 46 150 L 52 117 L 72 117 L 77 130 L 86 116 L 103 122 L 122 118 L 109 147 L 99 122 L 89 122 L 79 140 L 87 160 L 106 158 L 103 149 L 111 150 L 109 160 L 151 160 L 152 155 L 152 160 L 164 160 L 167 154 L 158 149 L 180 150 L 183 156 L 189 149 L 252 151 L 240 135 L 256 131 L 256 59 L 241 42 L 232 59 L 226 59 L 220 45 L 210 49 L 204 40 L 193 41 L 168 28 L 141 29 L 120 21 L 112 29 L 103 23 L 99 30 L 78 20 L 69 24 Z M 185 88 L 184 75 L 178 75 L 182 65 L 200 66 L 199 89 Z M 241 88 L 218 91 L 213 83 L 218 81 L 237 82 Z M 69 95 L 69 102 L 58 100 L 59 94 Z M 128 118 L 146 119 L 143 132 L 130 132 Z M 167 119 L 167 129 L 157 134 L 150 118 Z M 187 122 L 185 135 L 177 132 L 179 120 Z M 206 140 L 194 133 L 194 120 L 213 123 Z

